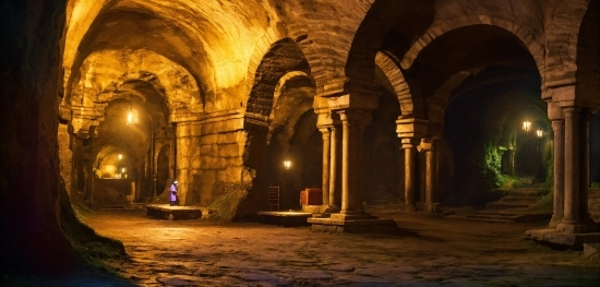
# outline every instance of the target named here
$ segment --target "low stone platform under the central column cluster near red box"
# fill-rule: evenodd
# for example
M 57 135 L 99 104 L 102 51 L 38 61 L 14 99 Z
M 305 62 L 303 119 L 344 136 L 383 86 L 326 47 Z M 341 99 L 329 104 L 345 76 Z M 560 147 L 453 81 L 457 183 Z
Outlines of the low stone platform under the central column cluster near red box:
M 387 234 L 398 230 L 392 218 L 376 216 L 352 216 L 332 214 L 331 217 L 311 217 L 308 219 L 313 231 L 349 234 Z

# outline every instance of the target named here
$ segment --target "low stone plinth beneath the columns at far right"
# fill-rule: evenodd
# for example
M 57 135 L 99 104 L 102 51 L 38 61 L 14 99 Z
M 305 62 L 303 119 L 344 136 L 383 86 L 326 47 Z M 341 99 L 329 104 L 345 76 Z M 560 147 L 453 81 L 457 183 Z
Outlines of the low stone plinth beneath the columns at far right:
M 584 243 L 600 243 L 600 232 L 566 234 L 556 229 L 533 229 L 525 231 L 525 236 L 540 243 L 576 250 L 583 250 Z

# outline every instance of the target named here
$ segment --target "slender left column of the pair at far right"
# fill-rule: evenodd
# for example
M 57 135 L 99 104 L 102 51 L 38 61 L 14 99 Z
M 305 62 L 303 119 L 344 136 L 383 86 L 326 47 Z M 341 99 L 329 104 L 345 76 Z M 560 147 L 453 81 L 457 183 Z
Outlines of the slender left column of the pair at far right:
M 556 119 L 552 121 L 552 130 L 554 132 L 554 168 L 553 168 L 553 181 L 554 181 L 554 210 L 552 219 L 550 220 L 550 227 L 555 228 L 557 224 L 564 217 L 564 157 L 565 157 L 565 135 L 564 135 L 564 120 Z

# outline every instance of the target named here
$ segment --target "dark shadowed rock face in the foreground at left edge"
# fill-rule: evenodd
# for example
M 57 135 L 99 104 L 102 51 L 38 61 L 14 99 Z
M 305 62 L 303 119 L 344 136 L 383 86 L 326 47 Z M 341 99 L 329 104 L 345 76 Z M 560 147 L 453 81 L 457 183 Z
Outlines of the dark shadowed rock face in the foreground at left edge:
M 75 254 L 58 218 L 58 105 L 65 1 L 2 3 L 2 272 L 61 274 Z

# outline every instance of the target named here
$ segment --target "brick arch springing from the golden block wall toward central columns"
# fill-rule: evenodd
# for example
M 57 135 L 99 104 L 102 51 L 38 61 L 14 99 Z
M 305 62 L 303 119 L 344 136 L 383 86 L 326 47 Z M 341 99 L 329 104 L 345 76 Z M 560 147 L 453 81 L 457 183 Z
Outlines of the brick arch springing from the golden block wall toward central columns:
M 254 73 L 252 89 L 245 105 L 247 118 L 266 125 L 279 80 L 290 71 L 305 73 L 308 70 L 309 65 L 302 50 L 290 38 L 271 45 Z

